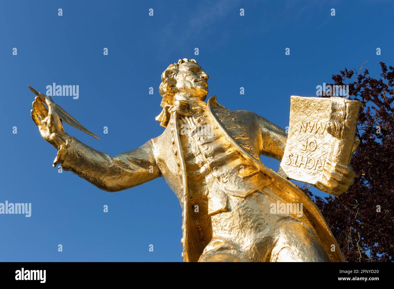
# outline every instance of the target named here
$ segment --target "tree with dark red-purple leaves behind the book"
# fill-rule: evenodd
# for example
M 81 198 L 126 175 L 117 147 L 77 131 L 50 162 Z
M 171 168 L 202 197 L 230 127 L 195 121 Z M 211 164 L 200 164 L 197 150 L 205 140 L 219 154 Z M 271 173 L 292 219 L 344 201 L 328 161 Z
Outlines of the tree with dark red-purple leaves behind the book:
M 381 62 L 381 78 L 375 79 L 362 72 L 364 64 L 332 77 L 335 85 L 349 85 L 349 99 L 362 102 L 356 132 L 361 142 L 351 161 L 354 184 L 339 197 L 303 190 L 320 208 L 346 261 L 387 262 L 394 255 L 394 67 Z

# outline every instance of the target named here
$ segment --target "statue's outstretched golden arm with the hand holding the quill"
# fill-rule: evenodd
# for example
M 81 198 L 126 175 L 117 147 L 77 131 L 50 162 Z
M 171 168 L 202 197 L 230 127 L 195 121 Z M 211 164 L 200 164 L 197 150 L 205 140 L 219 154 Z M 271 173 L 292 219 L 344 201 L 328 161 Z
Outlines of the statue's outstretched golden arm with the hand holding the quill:
M 54 166 L 62 164 L 64 170 L 111 192 L 126 190 L 160 176 L 151 140 L 138 149 L 111 157 L 69 136 L 54 112 L 52 99 L 47 97 L 45 102 L 49 111 L 36 97 L 31 114 L 41 136 L 58 149 Z

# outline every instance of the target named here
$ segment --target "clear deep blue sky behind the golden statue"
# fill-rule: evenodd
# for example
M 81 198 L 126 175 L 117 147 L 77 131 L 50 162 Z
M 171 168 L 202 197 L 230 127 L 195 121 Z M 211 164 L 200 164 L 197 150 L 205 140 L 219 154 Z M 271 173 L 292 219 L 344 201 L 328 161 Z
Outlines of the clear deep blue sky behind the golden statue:
M 34 95 L 28 85 L 43 93 L 54 82 L 79 85 L 78 99 L 53 99 L 101 140 L 69 125 L 65 130 L 112 156 L 163 132 L 154 120 L 161 111 L 160 75 L 180 58 L 195 58 L 210 76 L 208 96 L 285 128 L 290 95 L 314 96 L 317 85 L 364 61 L 374 77 L 379 61 L 394 64 L 393 6 L 392 1 L 1 1 L 0 202 L 32 203 L 32 216 L 0 215 L 0 261 L 182 261 L 181 208 L 164 180 L 108 193 L 70 172 L 58 173 L 51 166 L 56 150 L 30 117 Z M 262 160 L 275 170 L 279 166 Z

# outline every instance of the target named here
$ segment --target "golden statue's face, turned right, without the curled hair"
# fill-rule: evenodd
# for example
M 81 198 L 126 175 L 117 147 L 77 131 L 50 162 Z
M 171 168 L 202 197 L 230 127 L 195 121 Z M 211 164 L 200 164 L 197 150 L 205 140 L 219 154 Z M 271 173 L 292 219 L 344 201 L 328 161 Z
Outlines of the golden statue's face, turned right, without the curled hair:
M 208 75 L 194 62 L 179 64 L 179 72 L 175 79 L 179 92 L 186 92 L 191 97 L 205 99 L 208 94 Z

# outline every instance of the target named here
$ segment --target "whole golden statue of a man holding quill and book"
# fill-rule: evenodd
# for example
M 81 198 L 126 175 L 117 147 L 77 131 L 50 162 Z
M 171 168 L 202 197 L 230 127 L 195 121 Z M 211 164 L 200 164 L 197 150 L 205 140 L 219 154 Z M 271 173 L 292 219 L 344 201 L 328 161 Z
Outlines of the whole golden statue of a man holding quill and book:
M 317 206 L 288 179 L 333 195 L 348 190 L 359 103 L 292 96 L 288 137 L 253 112 L 226 109 L 216 96 L 205 102 L 207 81 L 194 59 L 168 66 L 156 117 L 164 132 L 113 157 L 69 136 L 62 121 L 94 134 L 49 96 L 33 90 L 31 114 L 58 150 L 53 166 L 102 190 L 163 177 L 182 206 L 184 261 L 344 261 Z M 260 155 L 282 161 L 278 172 Z

